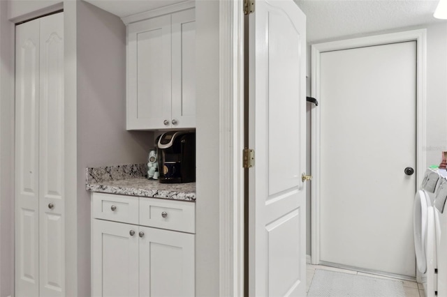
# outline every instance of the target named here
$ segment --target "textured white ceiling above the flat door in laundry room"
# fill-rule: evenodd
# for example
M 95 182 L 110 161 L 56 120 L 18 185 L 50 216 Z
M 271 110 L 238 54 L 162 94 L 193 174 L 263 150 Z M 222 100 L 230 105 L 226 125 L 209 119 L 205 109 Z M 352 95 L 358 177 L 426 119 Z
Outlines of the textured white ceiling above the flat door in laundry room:
M 435 22 L 437 0 L 295 0 L 307 16 L 307 42 Z

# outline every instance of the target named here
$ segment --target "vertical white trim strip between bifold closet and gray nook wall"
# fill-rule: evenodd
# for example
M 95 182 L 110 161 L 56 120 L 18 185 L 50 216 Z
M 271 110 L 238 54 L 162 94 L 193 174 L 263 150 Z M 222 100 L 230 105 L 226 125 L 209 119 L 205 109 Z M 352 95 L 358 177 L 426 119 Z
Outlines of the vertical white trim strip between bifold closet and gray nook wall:
M 78 47 L 80 1 L 64 1 L 65 295 L 78 296 Z M 80 183 L 83 181 L 79 181 Z

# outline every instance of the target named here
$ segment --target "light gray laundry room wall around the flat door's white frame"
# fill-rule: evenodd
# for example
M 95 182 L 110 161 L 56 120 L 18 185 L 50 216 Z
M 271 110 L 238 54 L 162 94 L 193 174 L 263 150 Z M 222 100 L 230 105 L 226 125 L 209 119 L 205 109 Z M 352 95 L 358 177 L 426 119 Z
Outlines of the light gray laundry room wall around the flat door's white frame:
M 413 29 L 427 29 L 427 145 L 424 148 L 427 164 L 439 165 L 441 151 L 447 151 L 447 24 L 432 24 L 427 26 L 413 26 L 409 28 L 394 29 L 376 33 L 362 34 L 361 36 L 347 36 L 334 38 L 322 42 L 344 40 L 363 36 L 374 36 L 382 33 L 409 31 Z M 307 52 L 307 75 L 311 77 L 310 47 Z M 308 86 L 309 88 L 309 86 Z M 308 90 L 309 93 L 309 90 Z M 318 99 L 318 98 L 317 98 Z M 317 107 L 318 108 L 318 107 Z M 310 114 L 308 113 L 308 120 Z M 308 121 L 309 123 L 309 121 Z M 309 131 L 308 131 L 309 132 Z M 310 144 L 308 144 L 310 147 Z M 423 168 L 425 170 L 425 168 Z M 310 187 L 308 187 L 310 188 Z M 310 202 L 310 199 L 308 203 Z M 311 227 L 311 210 L 307 207 L 307 231 Z M 307 234 L 307 254 L 311 254 L 311 237 Z

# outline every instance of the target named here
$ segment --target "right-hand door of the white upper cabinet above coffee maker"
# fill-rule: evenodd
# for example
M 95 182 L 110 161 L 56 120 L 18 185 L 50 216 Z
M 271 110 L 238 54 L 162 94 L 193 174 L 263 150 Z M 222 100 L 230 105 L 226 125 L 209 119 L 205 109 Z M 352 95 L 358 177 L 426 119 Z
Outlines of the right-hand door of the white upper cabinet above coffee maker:
M 172 15 L 173 128 L 196 127 L 196 13 L 194 9 Z

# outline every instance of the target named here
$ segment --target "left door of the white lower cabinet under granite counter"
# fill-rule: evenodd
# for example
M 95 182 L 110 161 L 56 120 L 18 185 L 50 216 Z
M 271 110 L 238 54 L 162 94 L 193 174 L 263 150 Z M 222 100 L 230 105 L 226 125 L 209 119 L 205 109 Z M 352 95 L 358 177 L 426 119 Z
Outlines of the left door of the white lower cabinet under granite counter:
M 92 224 L 92 295 L 138 296 L 138 226 L 104 220 Z

